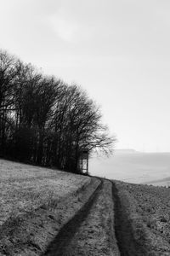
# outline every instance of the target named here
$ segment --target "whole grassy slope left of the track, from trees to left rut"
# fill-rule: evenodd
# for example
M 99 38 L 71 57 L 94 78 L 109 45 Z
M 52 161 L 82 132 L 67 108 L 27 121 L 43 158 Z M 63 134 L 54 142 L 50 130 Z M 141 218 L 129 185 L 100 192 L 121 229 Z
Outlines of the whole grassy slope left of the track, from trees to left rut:
M 0 255 L 40 255 L 99 181 L 0 160 Z

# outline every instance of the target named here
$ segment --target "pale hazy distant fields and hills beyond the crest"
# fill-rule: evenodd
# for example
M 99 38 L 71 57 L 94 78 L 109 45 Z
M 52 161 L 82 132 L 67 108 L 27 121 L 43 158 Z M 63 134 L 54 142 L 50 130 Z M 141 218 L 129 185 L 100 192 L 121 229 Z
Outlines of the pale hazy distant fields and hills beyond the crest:
M 111 158 L 90 160 L 93 175 L 129 183 L 170 185 L 170 153 L 117 151 Z

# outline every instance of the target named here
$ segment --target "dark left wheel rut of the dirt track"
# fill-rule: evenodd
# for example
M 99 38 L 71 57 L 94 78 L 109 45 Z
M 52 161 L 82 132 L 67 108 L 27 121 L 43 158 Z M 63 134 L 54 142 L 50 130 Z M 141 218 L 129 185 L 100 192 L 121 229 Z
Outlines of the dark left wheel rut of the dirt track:
M 88 201 L 77 212 L 77 214 L 71 218 L 71 220 L 66 223 L 61 230 L 59 230 L 59 234 L 55 236 L 54 241 L 48 245 L 46 252 L 43 253 L 42 256 L 65 256 L 65 248 L 68 247 L 69 242 L 77 233 L 77 230 L 82 224 L 83 220 L 87 218 L 88 212 L 93 206 L 94 201 L 98 197 L 102 187 L 103 181 L 100 179 L 99 186 L 97 189 L 95 189 L 93 195 L 90 196 Z

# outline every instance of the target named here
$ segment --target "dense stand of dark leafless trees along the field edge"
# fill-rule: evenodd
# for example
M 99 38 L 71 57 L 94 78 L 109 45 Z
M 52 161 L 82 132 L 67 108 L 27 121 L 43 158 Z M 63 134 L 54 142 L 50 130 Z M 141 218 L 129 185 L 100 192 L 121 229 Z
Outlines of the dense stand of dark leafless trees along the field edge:
M 111 151 L 114 139 L 79 86 L 43 75 L 0 50 L 0 155 L 80 172 L 82 148 Z

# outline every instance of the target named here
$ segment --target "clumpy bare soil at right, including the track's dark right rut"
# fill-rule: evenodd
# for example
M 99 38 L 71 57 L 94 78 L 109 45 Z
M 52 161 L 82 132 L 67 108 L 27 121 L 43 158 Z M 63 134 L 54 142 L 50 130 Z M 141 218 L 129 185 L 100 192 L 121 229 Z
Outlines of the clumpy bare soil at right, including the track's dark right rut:
M 116 182 L 115 195 L 122 255 L 170 255 L 170 190 Z

